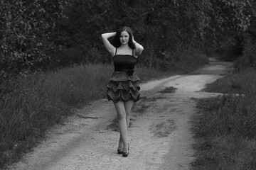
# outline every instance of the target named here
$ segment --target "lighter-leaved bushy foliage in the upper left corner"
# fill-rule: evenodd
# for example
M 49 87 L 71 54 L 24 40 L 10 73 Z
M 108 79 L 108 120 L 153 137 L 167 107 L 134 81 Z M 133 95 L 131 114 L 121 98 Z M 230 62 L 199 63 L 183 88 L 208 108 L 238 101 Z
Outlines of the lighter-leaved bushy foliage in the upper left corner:
M 63 5 L 57 0 L 0 1 L 0 77 L 23 74 L 50 60 L 46 50 L 53 47 L 50 34 L 63 18 Z

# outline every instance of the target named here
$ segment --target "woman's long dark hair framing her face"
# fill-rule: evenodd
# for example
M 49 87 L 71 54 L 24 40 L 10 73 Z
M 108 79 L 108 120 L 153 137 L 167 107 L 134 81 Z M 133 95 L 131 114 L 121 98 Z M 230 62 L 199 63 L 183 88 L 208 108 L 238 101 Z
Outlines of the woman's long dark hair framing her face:
M 127 31 L 127 33 L 129 34 L 129 41 L 128 41 L 128 45 L 129 47 L 131 47 L 132 49 L 135 48 L 134 43 L 132 42 L 132 28 L 129 28 L 127 26 L 121 27 L 117 30 L 117 34 L 114 36 L 114 38 L 111 41 L 111 44 L 114 45 L 114 47 L 120 47 L 121 46 L 121 42 L 120 42 L 120 35 L 123 31 Z

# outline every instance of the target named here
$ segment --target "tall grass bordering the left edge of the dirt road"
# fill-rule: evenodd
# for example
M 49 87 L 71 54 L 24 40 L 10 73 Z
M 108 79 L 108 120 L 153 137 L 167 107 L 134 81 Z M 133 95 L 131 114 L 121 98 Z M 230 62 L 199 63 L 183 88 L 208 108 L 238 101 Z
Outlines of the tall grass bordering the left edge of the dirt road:
M 188 57 L 188 56 L 187 56 Z M 138 67 L 141 82 L 190 72 L 205 64 L 192 63 L 189 70 L 181 62 L 175 72 Z M 185 63 L 188 66 L 190 63 Z M 73 108 L 81 108 L 105 98 L 107 82 L 113 72 L 110 64 L 75 65 L 56 72 L 37 72 L 8 79 L 0 84 L 0 168 L 17 162 L 40 142 L 46 130 L 63 123 Z

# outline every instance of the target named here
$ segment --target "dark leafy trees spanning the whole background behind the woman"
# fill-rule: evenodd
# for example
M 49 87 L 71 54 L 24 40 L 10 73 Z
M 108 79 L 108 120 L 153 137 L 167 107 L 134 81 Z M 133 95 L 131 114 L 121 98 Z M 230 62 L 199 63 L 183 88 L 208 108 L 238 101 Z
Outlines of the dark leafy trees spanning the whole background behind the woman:
M 134 29 L 141 60 L 152 66 L 157 56 L 171 60 L 177 50 L 252 32 L 253 18 L 253 0 L 1 0 L 0 76 L 61 62 L 68 49 L 82 51 L 78 62 L 110 62 L 100 34 L 119 26 Z

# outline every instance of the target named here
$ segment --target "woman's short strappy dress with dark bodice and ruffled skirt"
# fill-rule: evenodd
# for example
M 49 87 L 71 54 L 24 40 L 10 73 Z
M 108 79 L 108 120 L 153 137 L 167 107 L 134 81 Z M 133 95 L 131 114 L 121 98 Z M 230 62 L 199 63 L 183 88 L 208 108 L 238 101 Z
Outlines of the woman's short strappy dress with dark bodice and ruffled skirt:
M 132 50 L 133 54 L 133 50 Z M 137 58 L 134 55 L 117 55 L 113 57 L 114 72 L 107 84 L 107 99 L 109 101 L 139 101 L 139 77 L 134 73 Z

